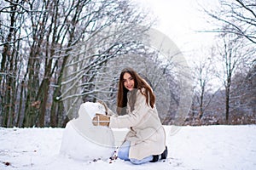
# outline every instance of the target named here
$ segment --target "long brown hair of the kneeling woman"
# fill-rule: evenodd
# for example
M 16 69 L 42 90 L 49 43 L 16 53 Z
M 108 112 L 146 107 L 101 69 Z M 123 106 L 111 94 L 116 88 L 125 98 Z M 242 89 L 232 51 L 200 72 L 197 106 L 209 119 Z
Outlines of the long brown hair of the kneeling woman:
M 133 71 L 131 68 L 125 68 L 123 71 L 121 71 L 121 74 L 119 76 L 119 90 L 118 90 L 118 99 L 117 99 L 118 115 L 126 114 L 125 108 L 128 102 L 127 94 L 129 90 L 126 89 L 124 85 L 125 73 L 129 73 L 134 80 L 134 89 L 131 91 L 131 95 L 129 98 L 129 105 L 131 106 L 131 111 L 134 110 L 134 104 L 136 102 L 135 96 L 136 96 L 137 90 L 140 90 L 140 93 L 146 97 L 147 105 L 149 104 L 151 108 L 153 108 L 154 102 L 155 102 L 155 96 L 152 88 L 148 85 L 148 82 L 146 82 L 142 77 L 140 77 L 136 71 Z M 145 91 L 142 91 L 143 88 L 145 89 Z

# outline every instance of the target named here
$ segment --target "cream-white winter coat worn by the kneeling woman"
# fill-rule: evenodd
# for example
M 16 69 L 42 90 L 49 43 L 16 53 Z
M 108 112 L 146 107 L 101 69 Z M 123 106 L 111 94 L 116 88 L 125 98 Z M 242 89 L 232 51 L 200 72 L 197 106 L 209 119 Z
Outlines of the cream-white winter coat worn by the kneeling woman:
M 131 141 L 129 157 L 141 160 L 159 155 L 166 148 L 166 133 L 154 106 L 147 105 L 146 97 L 137 90 L 134 110 L 127 105 L 127 115 L 110 117 L 109 127 L 130 127 L 125 140 Z M 129 101 L 128 101 L 129 103 Z

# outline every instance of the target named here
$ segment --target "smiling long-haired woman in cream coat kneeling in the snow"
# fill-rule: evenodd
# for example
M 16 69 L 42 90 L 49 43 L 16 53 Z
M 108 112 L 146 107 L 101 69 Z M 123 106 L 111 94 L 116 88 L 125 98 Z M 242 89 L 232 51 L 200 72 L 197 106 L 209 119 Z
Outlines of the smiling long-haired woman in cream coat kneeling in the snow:
M 117 102 L 119 116 L 96 114 L 93 124 L 130 128 L 119 148 L 119 158 L 134 164 L 166 159 L 166 133 L 155 108 L 153 90 L 131 68 L 124 69 L 120 74 Z

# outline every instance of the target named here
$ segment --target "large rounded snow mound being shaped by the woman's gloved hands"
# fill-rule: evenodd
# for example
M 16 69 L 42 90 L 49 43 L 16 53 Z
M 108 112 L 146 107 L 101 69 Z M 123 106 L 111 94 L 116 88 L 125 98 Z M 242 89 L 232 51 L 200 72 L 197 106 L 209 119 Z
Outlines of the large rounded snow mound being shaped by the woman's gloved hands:
M 113 155 L 114 137 L 109 127 L 93 126 L 92 117 L 105 114 L 100 103 L 80 105 L 79 117 L 67 122 L 61 141 L 61 155 L 78 160 L 107 160 Z

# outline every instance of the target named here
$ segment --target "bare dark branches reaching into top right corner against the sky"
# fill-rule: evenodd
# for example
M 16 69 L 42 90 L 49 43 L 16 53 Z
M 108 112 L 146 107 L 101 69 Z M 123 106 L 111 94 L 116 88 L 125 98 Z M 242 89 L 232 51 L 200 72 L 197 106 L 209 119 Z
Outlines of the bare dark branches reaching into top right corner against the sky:
M 246 37 L 256 43 L 256 2 L 251 0 L 219 0 L 220 8 L 216 11 L 204 8 L 204 11 L 220 24 L 213 31 L 232 33 Z

